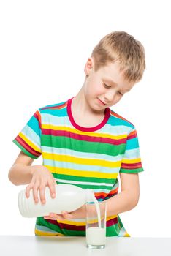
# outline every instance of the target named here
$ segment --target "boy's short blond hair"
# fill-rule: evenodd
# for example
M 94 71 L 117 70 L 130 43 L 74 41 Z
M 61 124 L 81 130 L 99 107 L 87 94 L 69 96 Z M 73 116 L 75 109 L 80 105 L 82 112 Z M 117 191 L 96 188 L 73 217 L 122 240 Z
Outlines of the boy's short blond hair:
M 119 61 L 120 71 L 129 82 L 141 80 L 145 70 L 145 50 L 142 44 L 124 31 L 115 31 L 103 37 L 91 53 L 94 70 Z

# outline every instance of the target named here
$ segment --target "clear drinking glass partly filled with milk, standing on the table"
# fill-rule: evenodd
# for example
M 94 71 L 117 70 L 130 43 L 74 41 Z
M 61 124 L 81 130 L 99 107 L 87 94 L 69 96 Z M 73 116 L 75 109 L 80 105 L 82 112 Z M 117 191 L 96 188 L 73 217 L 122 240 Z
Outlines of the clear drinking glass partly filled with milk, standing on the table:
M 106 244 L 107 203 L 86 203 L 86 244 L 90 249 L 102 249 Z

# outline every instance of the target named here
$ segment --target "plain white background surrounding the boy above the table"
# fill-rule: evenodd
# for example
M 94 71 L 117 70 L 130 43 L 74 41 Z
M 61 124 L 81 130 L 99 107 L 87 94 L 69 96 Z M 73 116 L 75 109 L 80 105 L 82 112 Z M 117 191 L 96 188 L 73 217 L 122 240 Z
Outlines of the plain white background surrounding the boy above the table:
M 8 171 L 12 143 L 32 114 L 63 102 L 83 85 L 86 60 L 99 39 L 126 31 L 145 47 L 140 83 L 113 110 L 137 128 L 140 200 L 120 214 L 131 236 L 170 236 L 170 1 L 0 1 L 0 234 L 34 235 L 35 219 L 18 211 Z M 42 158 L 34 161 L 42 164 Z

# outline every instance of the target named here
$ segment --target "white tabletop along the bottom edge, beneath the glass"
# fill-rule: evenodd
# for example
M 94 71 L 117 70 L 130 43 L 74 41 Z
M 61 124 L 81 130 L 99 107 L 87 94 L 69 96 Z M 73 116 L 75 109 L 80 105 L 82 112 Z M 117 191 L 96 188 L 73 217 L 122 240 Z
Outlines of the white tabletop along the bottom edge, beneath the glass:
M 0 236 L 1 256 L 171 256 L 171 238 L 107 237 L 104 249 L 86 248 L 80 236 Z

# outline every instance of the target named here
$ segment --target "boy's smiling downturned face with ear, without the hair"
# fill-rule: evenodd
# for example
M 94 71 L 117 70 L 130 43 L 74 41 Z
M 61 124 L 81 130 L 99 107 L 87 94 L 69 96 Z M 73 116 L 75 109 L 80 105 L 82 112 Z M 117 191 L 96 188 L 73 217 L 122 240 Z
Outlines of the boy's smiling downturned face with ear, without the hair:
M 134 83 L 129 83 L 123 78 L 119 64 L 109 63 L 94 71 L 94 59 L 89 58 L 85 69 L 87 77 L 84 84 L 84 93 L 89 107 L 95 111 L 103 111 L 115 105 Z

